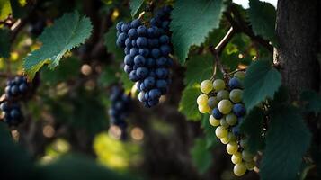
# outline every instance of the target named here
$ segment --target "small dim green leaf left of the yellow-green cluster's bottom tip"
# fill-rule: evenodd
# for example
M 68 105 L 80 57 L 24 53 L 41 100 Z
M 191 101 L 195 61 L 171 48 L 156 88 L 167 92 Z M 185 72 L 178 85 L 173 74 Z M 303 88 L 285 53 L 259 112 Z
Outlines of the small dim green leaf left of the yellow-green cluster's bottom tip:
M 205 139 L 195 139 L 194 146 L 191 149 L 192 163 L 196 166 L 197 170 L 204 174 L 212 164 L 213 156 L 206 148 Z

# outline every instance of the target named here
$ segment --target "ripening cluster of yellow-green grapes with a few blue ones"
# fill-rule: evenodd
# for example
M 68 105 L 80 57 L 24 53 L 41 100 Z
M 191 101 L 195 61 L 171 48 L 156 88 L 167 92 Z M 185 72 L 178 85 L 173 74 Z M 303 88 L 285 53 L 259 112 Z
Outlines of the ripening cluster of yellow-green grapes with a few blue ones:
M 229 79 L 226 85 L 222 79 L 214 82 L 201 82 L 201 92 L 197 98 L 199 111 L 210 113 L 210 124 L 217 127 L 215 134 L 223 144 L 227 145 L 227 153 L 231 155 L 234 174 L 244 175 L 246 170 L 255 166 L 254 154 L 247 148 L 246 139 L 239 132 L 240 122 L 245 116 L 245 106 L 242 103 L 243 80 L 245 73 L 238 71 Z

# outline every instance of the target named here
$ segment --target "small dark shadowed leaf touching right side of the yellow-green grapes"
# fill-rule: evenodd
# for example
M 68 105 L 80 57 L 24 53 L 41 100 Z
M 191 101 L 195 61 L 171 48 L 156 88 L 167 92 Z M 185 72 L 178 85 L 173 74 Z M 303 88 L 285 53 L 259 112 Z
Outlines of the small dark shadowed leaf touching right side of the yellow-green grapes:
M 248 150 L 254 154 L 263 148 L 263 118 L 263 110 L 255 107 L 241 122 L 240 131 L 246 135 Z

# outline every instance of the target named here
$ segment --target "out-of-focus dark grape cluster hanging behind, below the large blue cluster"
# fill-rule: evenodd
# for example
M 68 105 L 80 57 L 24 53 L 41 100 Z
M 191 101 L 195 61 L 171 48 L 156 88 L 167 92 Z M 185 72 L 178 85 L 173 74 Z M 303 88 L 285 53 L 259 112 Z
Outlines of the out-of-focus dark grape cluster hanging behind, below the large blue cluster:
M 123 89 L 119 86 L 113 86 L 111 89 L 111 108 L 108 113 L 110 115 L 111 125 L 118 126 L 121 130 L 120 139 L 126 139 L 126 118 L 130 112 L 130 97 L 124 94 Z

